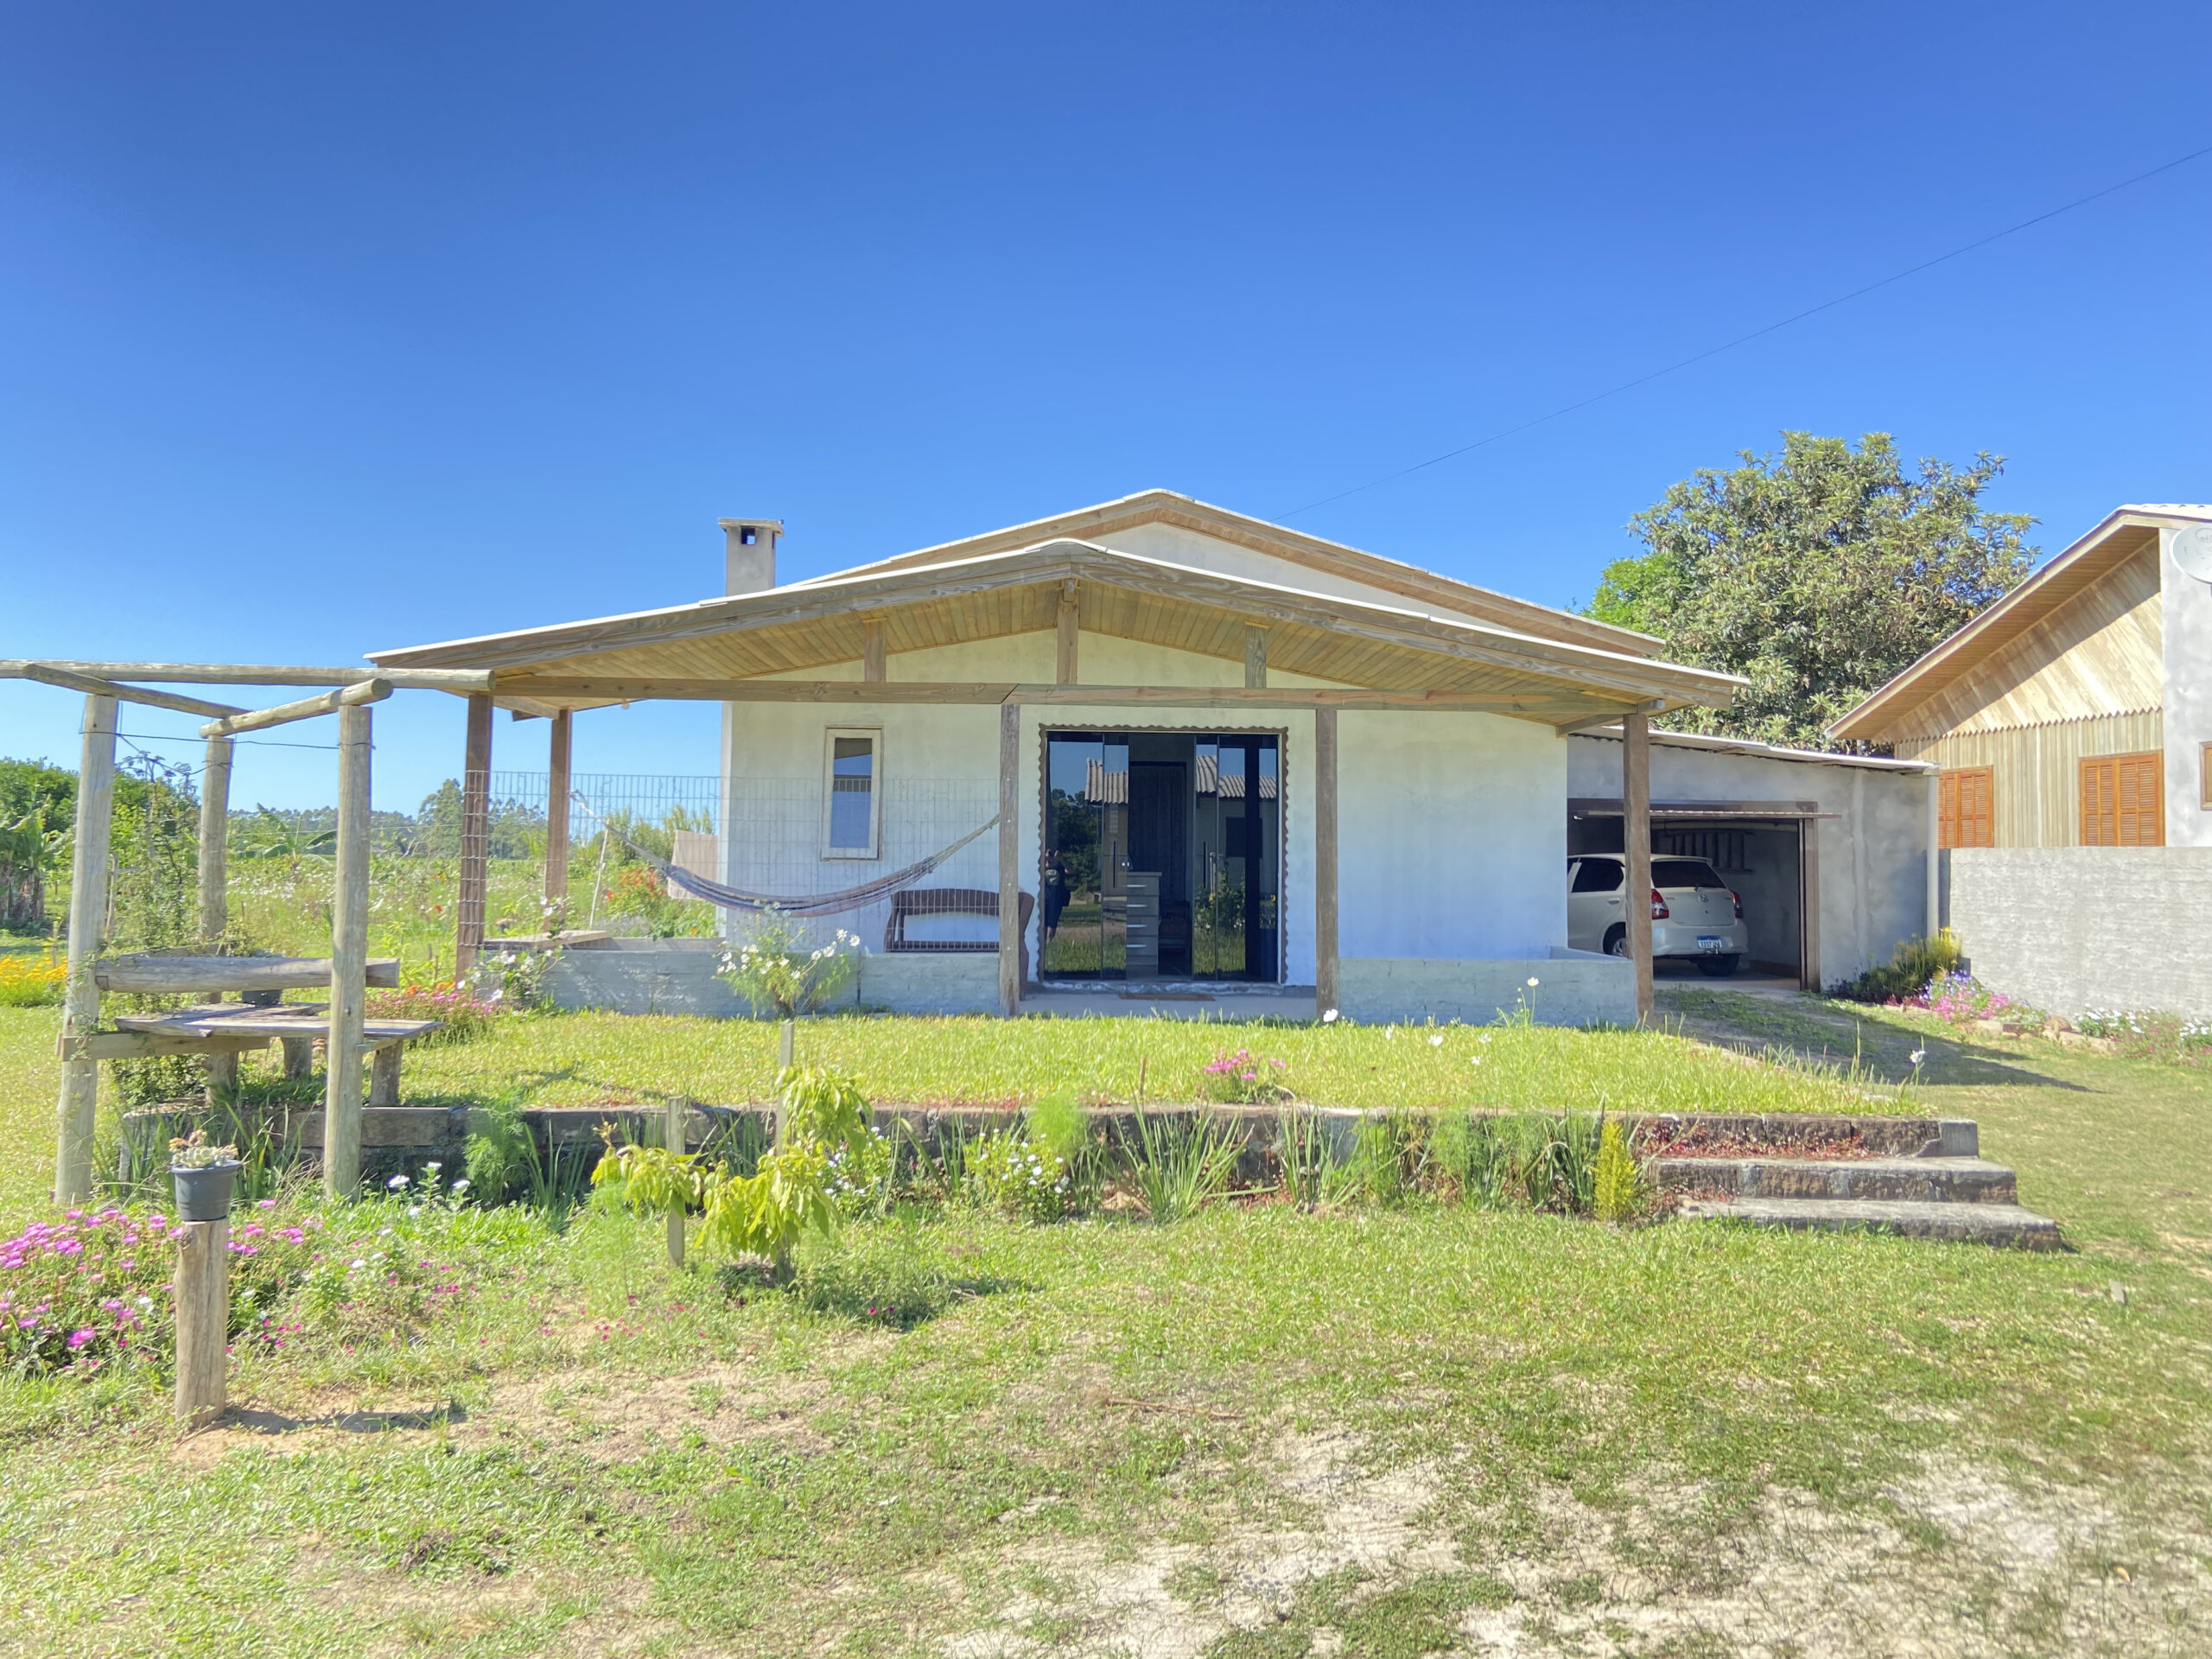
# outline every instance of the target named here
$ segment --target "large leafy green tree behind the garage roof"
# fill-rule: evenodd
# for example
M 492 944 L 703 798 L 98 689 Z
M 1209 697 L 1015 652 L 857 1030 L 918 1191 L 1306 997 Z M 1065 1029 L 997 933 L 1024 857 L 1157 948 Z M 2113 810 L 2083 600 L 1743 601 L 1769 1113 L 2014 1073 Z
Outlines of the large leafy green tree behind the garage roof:
M 2035 566 L 2035 520 L 1980 507 L 2002 456 L 1909 476 L 1887 431 L 1858 449 L 1785 431 L 1778 456 L 1741 453 L 1628 522 L 1646 553 L 1608 564 L 1588 608 L 1752 681 L 1661 726 L 1829 748 L 1834 719 Z

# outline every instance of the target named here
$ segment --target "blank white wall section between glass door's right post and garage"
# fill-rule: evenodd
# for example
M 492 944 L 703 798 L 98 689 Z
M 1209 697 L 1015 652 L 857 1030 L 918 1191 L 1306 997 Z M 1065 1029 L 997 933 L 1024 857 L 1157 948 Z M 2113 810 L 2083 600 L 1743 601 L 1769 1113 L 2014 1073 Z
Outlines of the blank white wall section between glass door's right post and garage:
M 1566 743 L 1440 710 L 1338 714 L 1343 958 L 1544 958 L 1566 945 Z

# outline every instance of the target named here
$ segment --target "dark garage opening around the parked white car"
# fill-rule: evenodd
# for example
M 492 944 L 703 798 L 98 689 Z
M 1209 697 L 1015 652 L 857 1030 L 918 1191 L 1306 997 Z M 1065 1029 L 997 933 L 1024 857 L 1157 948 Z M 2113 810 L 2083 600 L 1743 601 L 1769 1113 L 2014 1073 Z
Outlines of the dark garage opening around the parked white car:
M 1820 854 L 1809 825 L 1823 816 L 1834 814 L 1816 801 L 1652 801 L 1652 856 L 1703 858 L 1743 900 L 1743 975 L 1820 989 Z M 1590 852 L 1626 852 L 1617 799 L 1566 803 L 1566 854 Z M 1652 971 L 1697 973 L 1663 958 Z

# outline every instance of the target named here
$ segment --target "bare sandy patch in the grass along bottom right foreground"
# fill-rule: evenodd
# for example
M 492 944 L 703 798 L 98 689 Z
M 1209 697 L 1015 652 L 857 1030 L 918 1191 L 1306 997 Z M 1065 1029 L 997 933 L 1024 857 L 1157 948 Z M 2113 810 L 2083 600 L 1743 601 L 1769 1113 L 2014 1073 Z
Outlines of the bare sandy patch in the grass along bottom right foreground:
M 1062 1544 L 1011 1551 L 1002 1564 L 1031 1588 L 942 1650 L 1199 1659 L 1234 1637 L 1252 1652 L 1321 1655 L 1349 1630 L 1321 1624 L 1316 1606 L 1352 1626 L 1369 1617 L 1360 1608 L 1425 1586 L 1480 1584 L 1475 1606 L 1449 1601 L 1447 1637 L 1422 1652 L 2212 1652 L 2201 1493 L 2146 1504 L 2161 1517 L 2152 1533 L 2086 1489 L 1936 1455 L 1871 1511 L 1776 1489 L 1747 1522 L 1712 1531 L 1699 1522 L 1697 1484 L 1650 1486 L 1621 1509 L 1544 1484 L 1475 1509 L 1453 1537 L 1433 1467 L 1363 1471 L 1347 1436 L 1283 1436 L 1276 1462 L 1283 1498 L 1303 1511 L 1296 1524 L 1157 1544 L 1124 1562 Z M 1321 1584 L 1338 1588 L 1316 1601 Z

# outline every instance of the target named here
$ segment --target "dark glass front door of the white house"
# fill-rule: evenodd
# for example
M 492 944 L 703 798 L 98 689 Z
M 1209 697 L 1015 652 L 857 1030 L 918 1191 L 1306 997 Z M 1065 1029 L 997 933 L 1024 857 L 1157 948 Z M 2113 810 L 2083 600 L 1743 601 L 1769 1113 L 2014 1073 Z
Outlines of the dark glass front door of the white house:
M 1046 732 L 1044 772 L 1044 980 L 1274 982 L 1272 732 Z

